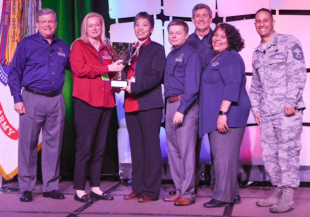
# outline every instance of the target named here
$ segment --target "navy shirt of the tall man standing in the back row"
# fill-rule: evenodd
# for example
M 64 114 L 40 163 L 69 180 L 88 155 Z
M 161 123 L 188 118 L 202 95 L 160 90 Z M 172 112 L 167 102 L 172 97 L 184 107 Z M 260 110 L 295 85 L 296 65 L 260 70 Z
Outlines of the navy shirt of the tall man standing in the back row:
M 202 39 L 198 37 L 196 34 L 196 30 L 193 34 L 188 36 L 188 44 L 195 48 L 197 52 L 199 53 L 201 57 L 201 61 L 203 64 L 203 68 L 208 65 L 208 63 L 211 61 L 211 59 L 215 56 L 215 50 L 210 48 L 209 40 L 211 38 L 211 35 L 213 33 L 213 30 L 210 28 L 208 34 L 203 36 Z

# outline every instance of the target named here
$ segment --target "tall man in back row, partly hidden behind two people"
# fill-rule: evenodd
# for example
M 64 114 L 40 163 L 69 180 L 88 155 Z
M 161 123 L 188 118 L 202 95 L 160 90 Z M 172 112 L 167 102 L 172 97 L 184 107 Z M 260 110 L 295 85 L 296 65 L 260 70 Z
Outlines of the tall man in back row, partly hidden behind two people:
M 206 65 L 215 56 L 215 51 L 210 48 L 209 40 L 213 30 L 210 27 L 212 23 L 212 10 L 206 4 L 197 4 L 192 10 L 192 21 L 196 27 L 194 33 L 188 36 L 188 44 L 195 48 L 199 53 L 202 61 L 202 67 Z M 196 144 L 196 167 L 195 167 L 195 194 L 198 191 L 199 178 L 200 178 L 200 150 L 201 150 L 202 137 L 197 138 Z

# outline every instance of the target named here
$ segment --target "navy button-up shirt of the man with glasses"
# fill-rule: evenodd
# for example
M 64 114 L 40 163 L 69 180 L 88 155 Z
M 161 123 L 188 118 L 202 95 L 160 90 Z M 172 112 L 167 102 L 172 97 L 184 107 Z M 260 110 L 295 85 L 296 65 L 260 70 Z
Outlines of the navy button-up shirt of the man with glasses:
M 14 103 L 23 102 L 22 87 L 40 91 L 60 91 L 64 86 L 65 69 L 70 69 L 70 48 L 53 36 L 52 43 L 40 34 L 22 39 L 16 48 L 8 75 Z

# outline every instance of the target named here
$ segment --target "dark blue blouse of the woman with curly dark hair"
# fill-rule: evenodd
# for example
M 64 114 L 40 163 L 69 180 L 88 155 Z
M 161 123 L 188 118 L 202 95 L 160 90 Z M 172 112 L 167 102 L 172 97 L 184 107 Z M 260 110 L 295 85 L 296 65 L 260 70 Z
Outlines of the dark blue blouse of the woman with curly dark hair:
M 220 53 L 201 74 L 199 137 L 217 130 L 222 100 L 232 101 L 227 112 L 228 127 L 245 127 L 251 103 L 244 62 L 235 50 Z

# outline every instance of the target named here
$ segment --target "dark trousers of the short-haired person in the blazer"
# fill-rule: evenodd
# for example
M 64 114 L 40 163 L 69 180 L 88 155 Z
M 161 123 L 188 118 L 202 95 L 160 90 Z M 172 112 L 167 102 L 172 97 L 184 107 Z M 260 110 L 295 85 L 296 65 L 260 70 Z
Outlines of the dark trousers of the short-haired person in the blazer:
M 125 112 L 129 134 L 132 191 L 139 197 L 146 195 L 158 199 L 162 184 L 162 152 L 160 124 L 162 109 Z

